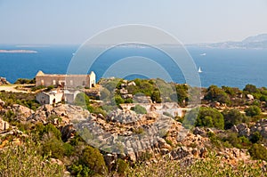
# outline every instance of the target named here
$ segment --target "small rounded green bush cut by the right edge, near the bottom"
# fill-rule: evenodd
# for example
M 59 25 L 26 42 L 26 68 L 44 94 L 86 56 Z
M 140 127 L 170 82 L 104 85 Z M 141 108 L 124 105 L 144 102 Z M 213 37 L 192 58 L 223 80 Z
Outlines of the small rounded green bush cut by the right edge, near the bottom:
M 260 144 L 254 144 L 248 152 L 251 157 L 267 161 L 267 149 Z

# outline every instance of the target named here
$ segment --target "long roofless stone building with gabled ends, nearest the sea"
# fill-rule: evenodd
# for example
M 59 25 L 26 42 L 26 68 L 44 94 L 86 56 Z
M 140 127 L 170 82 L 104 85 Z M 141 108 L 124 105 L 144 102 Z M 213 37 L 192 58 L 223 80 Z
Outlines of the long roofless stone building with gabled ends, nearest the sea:
M 44 74 L 41 70 L 36 74 L 36 86 L 44 85 L 55 87 L 74 88 L 78 86 L 92 88 L 95 85 L 95 74 L 92 71 L 90 75 L 58 75 Z

